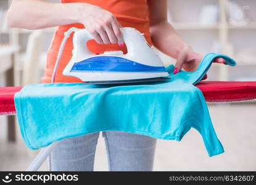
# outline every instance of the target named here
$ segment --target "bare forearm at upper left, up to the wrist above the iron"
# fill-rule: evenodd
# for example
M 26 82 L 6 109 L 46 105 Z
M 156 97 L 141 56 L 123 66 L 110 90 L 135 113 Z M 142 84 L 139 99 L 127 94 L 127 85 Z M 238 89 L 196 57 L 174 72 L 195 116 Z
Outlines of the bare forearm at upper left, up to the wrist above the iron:
M 83 3 L 85 6 L 85 3 Z M 10 27 L 36 30 L 77 23 L 81 3 L 50 3 L 40 0 L 13 0 L 8 10 Z

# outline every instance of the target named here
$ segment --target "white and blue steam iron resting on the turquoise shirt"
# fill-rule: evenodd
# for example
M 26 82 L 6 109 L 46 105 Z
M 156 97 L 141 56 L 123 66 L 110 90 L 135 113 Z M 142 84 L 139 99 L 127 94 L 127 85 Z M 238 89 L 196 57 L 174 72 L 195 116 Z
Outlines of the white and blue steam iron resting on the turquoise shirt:
M 93 84 L 170 79 L 159 56 L 135 28 L 122 28 L 127 54 L 122 51 L 105 51 L 95 55 L 86 44 L 93 39 L 88 30 L 76 28 L 73 31 L 73 56 L 64 68 L 63 75 L 75 76 L 84 83 Z

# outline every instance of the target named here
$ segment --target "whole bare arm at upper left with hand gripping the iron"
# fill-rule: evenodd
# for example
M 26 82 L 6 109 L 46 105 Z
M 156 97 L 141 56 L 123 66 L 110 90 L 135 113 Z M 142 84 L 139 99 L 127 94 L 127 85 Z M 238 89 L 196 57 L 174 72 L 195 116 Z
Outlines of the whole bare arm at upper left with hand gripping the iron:
M 122 45 L 120 25 L 109 11 L 88 3 L 50 3 L 13 0 L 7 15 L 9 27 L 36 30 L 82 23 L 99 44 Z

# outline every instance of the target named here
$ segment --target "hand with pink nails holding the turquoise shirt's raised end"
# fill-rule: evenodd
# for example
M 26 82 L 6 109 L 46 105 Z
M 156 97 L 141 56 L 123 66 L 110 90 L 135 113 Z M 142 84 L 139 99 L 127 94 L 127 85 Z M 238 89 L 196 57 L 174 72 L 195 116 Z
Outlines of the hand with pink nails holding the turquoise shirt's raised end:
M 190 46 L 183 47 L 178 55 L 178 59 L 175 64 L 175 70 L 173 73 L 176 74 L 180 72 L 181 68 L 184 68 L 184 70 L 187 72 L 194 72 L 199 66 L 202 58 L 203 56 L 198 54 L 197 52 L 194 52 Z M 225 60 L 222 58 L 217 58 L 213 60 L 213 62 L 223 64 L 225 63 Z M 204 79 L 206 79 L 206 76 L 202 80 Z

